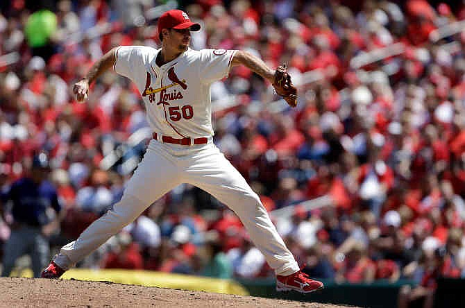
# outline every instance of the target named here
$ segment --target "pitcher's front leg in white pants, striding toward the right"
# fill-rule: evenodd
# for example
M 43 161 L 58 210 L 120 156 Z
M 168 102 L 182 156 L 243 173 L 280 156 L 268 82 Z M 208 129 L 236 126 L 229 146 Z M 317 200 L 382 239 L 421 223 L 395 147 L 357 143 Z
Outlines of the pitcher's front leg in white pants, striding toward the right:
M 189 166 L 185 180 L 233 209 L 277 275 L 296 273 L 298 264 L 276 231 L 260 198 L 223 154 L 212 152 L 197 158 Z

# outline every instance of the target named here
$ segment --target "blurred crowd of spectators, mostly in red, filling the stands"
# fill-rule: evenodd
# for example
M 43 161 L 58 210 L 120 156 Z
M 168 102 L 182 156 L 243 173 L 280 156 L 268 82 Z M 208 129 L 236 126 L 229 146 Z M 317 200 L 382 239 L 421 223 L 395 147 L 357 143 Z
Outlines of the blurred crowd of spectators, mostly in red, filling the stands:
M 146 146 L 128 145 L 147 127 L 129 80 L 105 74 L 85 104 L 69 86 L 112 47 L 160 46 L 152 8 L 169 3 L 49 2 L 0 4 L 0 186 L 27 175 L 37 151 L 47 153 L 62 205 L 59 227 L 48 234 L 59 247 L 119 200 Z M 405 278 L 427 289 L 441 275 L 465 277 L 465 31 L 434 36 L 465 19 L 464 5 L 181 4 L 202 25 L 192 48 L 242 49 L 270 67 L 287 63 L 299 85 L 298 107 L 285 108 L 270 103 L 279 98 L 262 78 L 235 67 L 212 86 L 214 142 L 311 277 Z M 360 67 L 351 61 L 396 43 L 404 46 L 396 55 Z M 330 204 L 301 205 L 321 196 Z M 284 207 L 289 215 L 273 215 Z M 10 234 L 6 205 L 4 212 L 0 247 Z M 78 266 L 273 275 L 235 214 L 189 185 L 157 200 Z

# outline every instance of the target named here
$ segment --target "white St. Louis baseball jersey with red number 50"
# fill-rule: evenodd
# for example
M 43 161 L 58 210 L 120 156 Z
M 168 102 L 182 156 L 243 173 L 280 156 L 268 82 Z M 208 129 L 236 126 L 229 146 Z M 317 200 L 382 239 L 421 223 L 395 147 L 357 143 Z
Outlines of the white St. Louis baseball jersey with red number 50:
M 174 138 L 211 137 L 210 85 L 228 76 L 235 51 L 187 49 L 158 67 L 160 50 L 120 46 L 115 72 L 137 85 L 154 132 Z

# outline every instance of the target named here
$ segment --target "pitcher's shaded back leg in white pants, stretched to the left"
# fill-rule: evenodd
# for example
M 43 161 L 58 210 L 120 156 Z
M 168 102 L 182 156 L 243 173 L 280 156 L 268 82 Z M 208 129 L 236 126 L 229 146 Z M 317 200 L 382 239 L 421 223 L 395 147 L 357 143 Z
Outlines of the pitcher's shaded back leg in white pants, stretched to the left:
M 180 184 L 178 170 L 167 156 L 148 150 L 128 181 L 121 200 L 67 245 L 53 261 L 67 270 L 134 221 L 155 200 Z

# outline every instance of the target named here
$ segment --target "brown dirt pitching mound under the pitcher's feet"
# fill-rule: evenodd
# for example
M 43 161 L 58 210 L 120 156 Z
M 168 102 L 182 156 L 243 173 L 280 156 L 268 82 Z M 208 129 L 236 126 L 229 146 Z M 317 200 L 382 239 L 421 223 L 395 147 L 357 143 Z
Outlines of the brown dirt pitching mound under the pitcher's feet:
M 198 291 L 161 289 L 148 286 L 47 280 L 0 278 L 0 307 L 307 307 L 347 306 L 295 302 L 252 296 L 235 296 Z M 311 296 L 311 295 L 309 295 Z

